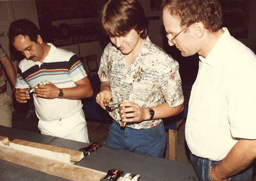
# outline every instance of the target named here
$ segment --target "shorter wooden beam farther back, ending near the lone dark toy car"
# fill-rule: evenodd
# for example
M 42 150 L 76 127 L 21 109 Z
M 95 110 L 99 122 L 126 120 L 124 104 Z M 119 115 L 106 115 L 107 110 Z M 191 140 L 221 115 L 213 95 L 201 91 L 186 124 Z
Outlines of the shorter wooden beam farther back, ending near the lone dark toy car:
M 73 163 L 72 161 L 80 161 L 84 157 L 82 151 L 21 139 L 14 139 L 13 141 L 10 141 L 10 146 L 14 149 L 36 154 L 38 156 L 56 159 L 66 163 Z

